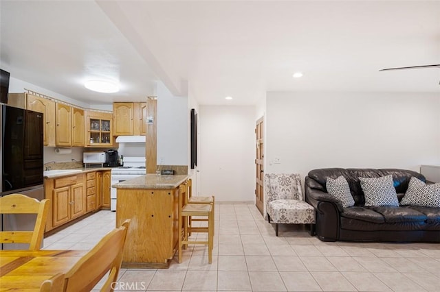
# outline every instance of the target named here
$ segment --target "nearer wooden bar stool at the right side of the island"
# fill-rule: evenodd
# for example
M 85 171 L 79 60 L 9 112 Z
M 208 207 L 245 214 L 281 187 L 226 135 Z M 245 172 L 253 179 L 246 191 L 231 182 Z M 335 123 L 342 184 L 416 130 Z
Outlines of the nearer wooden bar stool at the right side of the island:
M 187 203 L 187 188 L 186 184 L 179 186 L 179 263 L 181 263 L 181 251 L 186 248 L 188 244 L 208 245 L 208 263 L 212 263 L 212 248 L 214 246 L 214 214 L 212 212 L 212 206 L 210 204 L 188 204 Z M 189 227 L 188 217 L 206 217 L 208 221 L 207 227 Z M 208 240 L 189 240 L 188 232 L 206 232 L 208 233 Z

